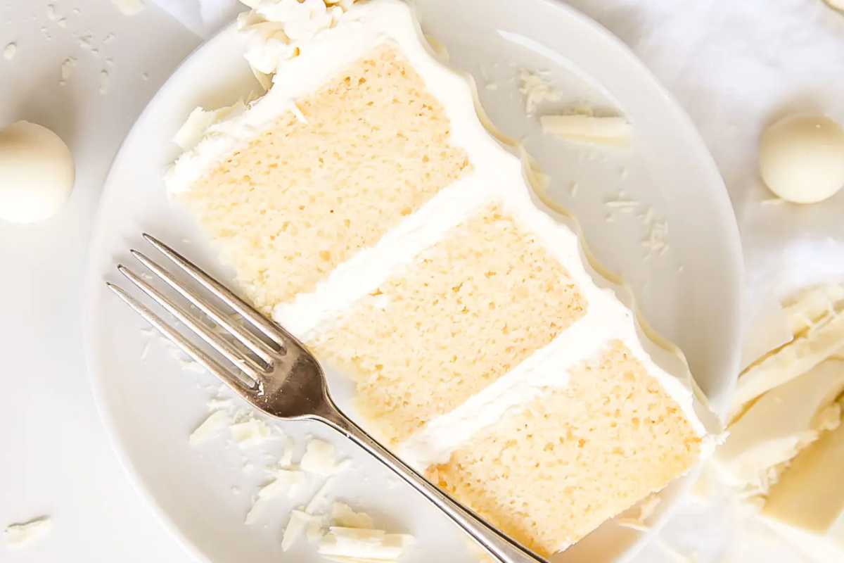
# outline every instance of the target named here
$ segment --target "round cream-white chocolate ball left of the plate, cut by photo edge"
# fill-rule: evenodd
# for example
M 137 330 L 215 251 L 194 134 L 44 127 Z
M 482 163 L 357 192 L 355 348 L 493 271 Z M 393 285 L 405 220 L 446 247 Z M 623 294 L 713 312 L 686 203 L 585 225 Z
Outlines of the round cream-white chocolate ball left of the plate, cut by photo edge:
M 0 130 L 0 219 L 34 223 L 56 214 L 73 175 L 68 145 L 50 129 L 16 122 Z

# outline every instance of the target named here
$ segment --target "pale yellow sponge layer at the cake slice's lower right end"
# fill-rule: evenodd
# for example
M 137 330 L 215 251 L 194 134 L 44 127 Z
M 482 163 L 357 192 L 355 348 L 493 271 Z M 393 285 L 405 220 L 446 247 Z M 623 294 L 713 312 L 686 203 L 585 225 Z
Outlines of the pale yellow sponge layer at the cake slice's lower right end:
M 547 556 L 661 490 L 700 450 L 679 405 L 615 341 L 571 369 L 565 387 L 511 409 L 427 474 Z

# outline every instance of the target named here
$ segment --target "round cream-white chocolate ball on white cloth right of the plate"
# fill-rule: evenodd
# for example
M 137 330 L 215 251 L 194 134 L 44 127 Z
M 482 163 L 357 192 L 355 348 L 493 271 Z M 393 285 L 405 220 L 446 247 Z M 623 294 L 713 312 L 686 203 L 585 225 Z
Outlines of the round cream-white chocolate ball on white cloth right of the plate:
M 844 187 L 844 130 L 826 116 L 787 116 L 762 133 L 759 170 L 786 201 L 831 198 Z

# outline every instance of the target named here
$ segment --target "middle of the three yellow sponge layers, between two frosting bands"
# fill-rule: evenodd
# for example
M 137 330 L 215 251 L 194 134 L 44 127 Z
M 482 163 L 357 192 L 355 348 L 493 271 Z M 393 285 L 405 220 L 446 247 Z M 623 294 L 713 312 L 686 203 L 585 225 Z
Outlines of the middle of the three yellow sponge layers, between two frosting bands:
M 351 306 L 311 347 L 395 442 L 549 344 L 587 310 L 531 233 L 491 205 Z

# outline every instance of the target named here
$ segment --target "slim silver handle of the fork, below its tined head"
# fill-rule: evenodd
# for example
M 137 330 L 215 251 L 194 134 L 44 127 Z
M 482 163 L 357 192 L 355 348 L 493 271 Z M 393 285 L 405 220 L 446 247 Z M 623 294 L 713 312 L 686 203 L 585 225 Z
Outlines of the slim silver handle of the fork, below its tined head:
M 314 420 L 319 420 L 331 426 L 334 430 L 338 430 L 358 446 L 375 456 L 378 461 L 392 469 L 408 485 L 422 493 L 434 506 L 444 512 L 447 517 L 451 518 L 457 526 L 463 528 L 463 531 L 472 536 L 475 541 L 481 544 L 500 563 L 526 563 L 528 561 L 548 563 L 531 550 L 522 547 L 522 545 L 517 544 L 504 533 L 501 533 L 487 522 L 484 522 L 474 512 L 452 499 L 450 495 L 446 495 L 445 492 L 436 485 L 433 485 L 428 479 L 425 479 L 414 468 L 411 468 L 407 463 L 394 456 L 386 447 L 381 446 L 375 438 L 367 434 L 365 430 L 354 424 L 348 416 L 343 414 L 331 398 L 327 397 L 325 408 L 320 410 L 322 412 L 312 417 Z

